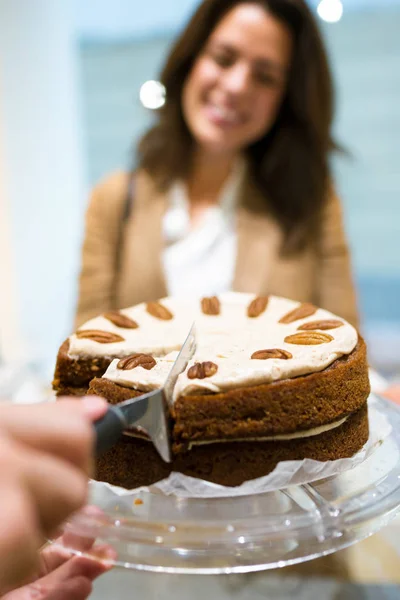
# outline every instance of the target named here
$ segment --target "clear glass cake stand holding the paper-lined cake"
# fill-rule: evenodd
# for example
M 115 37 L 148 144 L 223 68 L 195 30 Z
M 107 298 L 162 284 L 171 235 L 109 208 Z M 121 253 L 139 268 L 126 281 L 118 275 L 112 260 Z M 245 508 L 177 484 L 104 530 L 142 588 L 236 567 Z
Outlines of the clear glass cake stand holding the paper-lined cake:
M 246 573 L 311 560 L 376 533 L 400 512 L 400 409 L 377 399 L 392 431 L 359 466 L 340 475 L 283 490 L 228 498 L 182 498 L 140 491 L 104 502 L 91 483 L 90 503 L 101 511 L 75 515 L 63 542 L 75 554 L 164 573 Z M 86 538 L 96 540 L 90 551 Z

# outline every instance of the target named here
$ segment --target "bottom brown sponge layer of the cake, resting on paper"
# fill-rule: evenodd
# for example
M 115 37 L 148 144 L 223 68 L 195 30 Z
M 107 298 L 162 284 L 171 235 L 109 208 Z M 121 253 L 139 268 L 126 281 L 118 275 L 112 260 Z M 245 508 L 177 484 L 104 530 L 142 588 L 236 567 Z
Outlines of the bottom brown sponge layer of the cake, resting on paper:
M 181 472 L 226 486 L 267 475 L 284 460 L 311 458 L 319 461 L 348 458 L 368 440 L 367 405 L 343 425 L 309 438 L 274 442 L 226 442 L 196 446 L 162 461 L 151 442 L 125 438 L 97 461 L 96 479 L 127 489 L 151 485 Z

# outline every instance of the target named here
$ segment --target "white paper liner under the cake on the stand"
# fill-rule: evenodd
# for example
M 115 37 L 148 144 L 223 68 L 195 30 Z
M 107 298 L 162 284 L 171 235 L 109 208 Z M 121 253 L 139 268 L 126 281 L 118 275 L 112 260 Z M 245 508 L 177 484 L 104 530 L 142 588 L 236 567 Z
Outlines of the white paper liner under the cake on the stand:
M 101 491 L 108 491 L 107 499 L 110 500 L 110 492 L 116 497 L 124 496 L 132 501 L 139 492 L 163 493 L 184 498 L 221 498 L 229 496 L 246 496 L 261 494 L 273 490 L 283 489 L 292 485 L 311 483 L 318 479 L 325 479 L 332 475 L 339 475 L 344 471 L 353 469 L 364 462 L 376 448 L 387 438 L 392 426 L 387 417 L 379 410 L 378 403 L 370 396 L 368 400 L 369 417 L 369 439 L 363 448 L 351 458 L 341 458 L 334 461 L 316 461 L 311 459 L 290 460 L 278 463 L 275 469 L 264 477 L 245 481 L 237 487 L 226 487 L 188 477 L 181 473 L 171 473 L 169 477 L 154 483 L 149 487 L 140 487 L 134 490 L 126 490 L 105 482 L 93 481 L 92 486 L 96 497 Z

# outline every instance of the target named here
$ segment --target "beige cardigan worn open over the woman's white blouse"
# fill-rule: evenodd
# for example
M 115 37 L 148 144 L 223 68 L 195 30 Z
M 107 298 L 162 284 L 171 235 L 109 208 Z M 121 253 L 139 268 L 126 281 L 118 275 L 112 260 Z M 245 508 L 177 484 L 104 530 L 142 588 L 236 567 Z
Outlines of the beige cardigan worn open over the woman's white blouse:
M 166 194 L 158 191 L 147 174 L 138 172 L 132 210 L 121 231 L 128 185 L 127 173 L 118 172 L 92 193 L 86 215 L 77 326 L 105 310 L 167 295 L 161 264 Z M 246 178 L 240 190 L 237 235 L 235 291 L 313 302 L 357 324 L 341 206 L 334 194 L 308 247 L 288 258 L 280 253 L 279 225 L 268 214 L 258 189 Z

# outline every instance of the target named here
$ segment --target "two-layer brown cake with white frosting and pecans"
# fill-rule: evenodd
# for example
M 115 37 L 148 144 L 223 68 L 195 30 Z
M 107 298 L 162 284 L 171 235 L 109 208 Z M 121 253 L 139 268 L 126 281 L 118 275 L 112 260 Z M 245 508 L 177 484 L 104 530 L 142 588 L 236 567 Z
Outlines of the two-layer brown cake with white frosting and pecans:
M 309 303 L 227 292 L 163 298 L 91 319 L 61 346 L 58 395 L 118 403 L 162 386 L 192 322 L 197 348 L 169 407 L 173 461 L 144 431 L 97 460 L 97 478 L 134 488 L 181 472 L 227 486 L 284 460 L 350 457 L 368 439 L 366 347 Z

